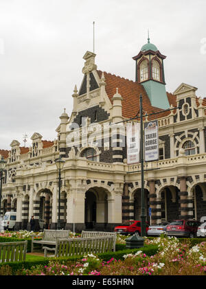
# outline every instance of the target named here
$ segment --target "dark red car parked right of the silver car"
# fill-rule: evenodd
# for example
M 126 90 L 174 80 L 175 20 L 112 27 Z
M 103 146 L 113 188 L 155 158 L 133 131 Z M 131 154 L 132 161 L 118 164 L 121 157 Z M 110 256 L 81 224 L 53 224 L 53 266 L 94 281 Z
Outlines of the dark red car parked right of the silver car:
M 194 238 L 201 223 L 195 220 L 174 220 L 167 227 L 167 235 Z

